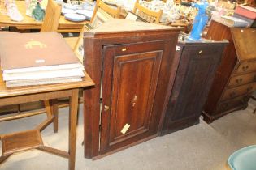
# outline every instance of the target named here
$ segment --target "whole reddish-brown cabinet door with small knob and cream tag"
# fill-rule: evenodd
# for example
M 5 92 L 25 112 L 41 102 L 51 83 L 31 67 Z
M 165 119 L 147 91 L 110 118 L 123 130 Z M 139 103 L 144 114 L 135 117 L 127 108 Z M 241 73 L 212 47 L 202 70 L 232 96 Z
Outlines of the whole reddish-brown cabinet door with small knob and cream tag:
M 145 52 L 124 54 L 117 52 L 119 45 L 103 47 L 102 154 L 158 130 L 150 123 L 163 51 L 142 46 Z M 132 48 L 126 45 L 124 49 Z

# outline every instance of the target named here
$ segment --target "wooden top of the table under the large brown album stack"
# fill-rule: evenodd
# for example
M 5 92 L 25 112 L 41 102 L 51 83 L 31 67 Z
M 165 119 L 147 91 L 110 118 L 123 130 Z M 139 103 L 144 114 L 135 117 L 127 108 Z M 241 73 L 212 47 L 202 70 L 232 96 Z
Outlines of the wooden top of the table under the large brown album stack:
M 35 94 L 35 93 L 48 92 L 48 91 L 61 91 L 61 90 L 68 90 L 72 88 L 90 87 L 93 85 L 94 85 L 93 80 L 85 72 L 85 77 L 81 82 L 7 88 L 4 81 L 2 80 L 2 72 L 1 72 L 0 73 L 0 99 L 3 97 L 21 96 L 21 95 Z

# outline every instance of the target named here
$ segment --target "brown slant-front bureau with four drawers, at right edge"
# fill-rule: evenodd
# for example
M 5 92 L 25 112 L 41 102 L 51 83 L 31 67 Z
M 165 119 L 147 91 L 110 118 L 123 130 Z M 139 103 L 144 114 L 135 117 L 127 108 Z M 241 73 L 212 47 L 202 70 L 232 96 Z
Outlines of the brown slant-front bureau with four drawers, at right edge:
M 206 37 L 230 42 L 202 112 L 204 120 L 210 123 L 246 108 L 249 96 L 256 90 L 256 29 L 230 28 L 213 20 Z

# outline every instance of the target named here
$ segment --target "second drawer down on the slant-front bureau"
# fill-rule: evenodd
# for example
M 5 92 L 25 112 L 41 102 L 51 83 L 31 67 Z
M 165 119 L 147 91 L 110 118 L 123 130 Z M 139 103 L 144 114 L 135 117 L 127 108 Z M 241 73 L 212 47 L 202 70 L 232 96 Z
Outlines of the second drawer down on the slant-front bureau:
M 256 82 L 256 73 L 238 75 L 229 80 L 228 87 L 241 86 L 243 84 Z

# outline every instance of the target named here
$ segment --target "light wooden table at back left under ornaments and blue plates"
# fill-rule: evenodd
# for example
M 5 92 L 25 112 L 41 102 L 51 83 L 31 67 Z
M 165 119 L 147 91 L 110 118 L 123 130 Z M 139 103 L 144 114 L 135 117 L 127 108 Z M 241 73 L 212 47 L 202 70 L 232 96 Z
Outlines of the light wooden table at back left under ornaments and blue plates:
M 26 15 L 26 7 L 24 1 L 15 1 L 15 4 L 18 6 L 20 14 L 23 15 L 24 20 L 20 22 L 12 21 L 9 16 L 2 15 L 0 13 L 0 27 L 16 27 L 18 29 L 40 29 L 41 23 L 35 21 L 30 16 Z M 58 32 L 80 32 L 82 26 L 89 21 L 83 22 L 72 22 L 64 18 L 63 15 L 59 19 L 59 28 Z

